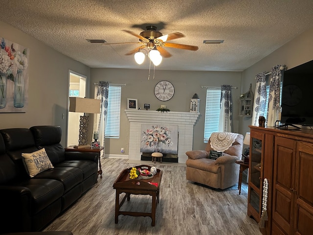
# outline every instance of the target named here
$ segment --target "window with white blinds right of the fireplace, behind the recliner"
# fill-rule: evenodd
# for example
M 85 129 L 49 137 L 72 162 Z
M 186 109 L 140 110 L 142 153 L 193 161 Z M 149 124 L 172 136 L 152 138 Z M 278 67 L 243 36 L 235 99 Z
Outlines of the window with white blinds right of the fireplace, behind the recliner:
M 221 89 L 206 90 L 204 142 L 207 143 L 213 132 L 219 131 Z

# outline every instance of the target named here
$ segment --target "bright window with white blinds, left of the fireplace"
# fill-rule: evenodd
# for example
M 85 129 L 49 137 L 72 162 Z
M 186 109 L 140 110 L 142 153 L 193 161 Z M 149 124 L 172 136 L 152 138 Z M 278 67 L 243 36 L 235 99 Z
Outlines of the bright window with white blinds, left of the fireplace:
M 106 138 L 119 138 L 121 91 L 121 86 L 109 85 Z

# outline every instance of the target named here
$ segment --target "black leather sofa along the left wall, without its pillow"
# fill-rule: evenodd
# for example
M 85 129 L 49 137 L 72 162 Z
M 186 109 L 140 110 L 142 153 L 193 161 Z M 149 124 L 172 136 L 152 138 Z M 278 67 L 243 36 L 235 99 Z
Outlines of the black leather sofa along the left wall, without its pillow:
M 41 231 L 97 182 L 98 154 L 66 152 L 59 126 L 0 130 L 0 234 Z M 54 168 L 33 178 L 22 153 L 45 148 Z

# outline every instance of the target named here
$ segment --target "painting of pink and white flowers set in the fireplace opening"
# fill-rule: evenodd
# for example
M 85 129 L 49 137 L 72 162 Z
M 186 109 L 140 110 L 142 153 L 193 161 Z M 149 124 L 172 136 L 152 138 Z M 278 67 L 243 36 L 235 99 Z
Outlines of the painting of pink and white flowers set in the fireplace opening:
M 178 154 L 178 125 L 141 124 L 140 152 Z

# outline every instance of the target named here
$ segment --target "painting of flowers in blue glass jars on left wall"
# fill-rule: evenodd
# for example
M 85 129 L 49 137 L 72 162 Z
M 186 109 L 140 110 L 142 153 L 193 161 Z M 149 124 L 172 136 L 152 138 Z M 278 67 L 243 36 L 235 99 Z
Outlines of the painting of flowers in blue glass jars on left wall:
M 27 48 L 1 38 L 0 113 L 24 113 L 28 105 Z

